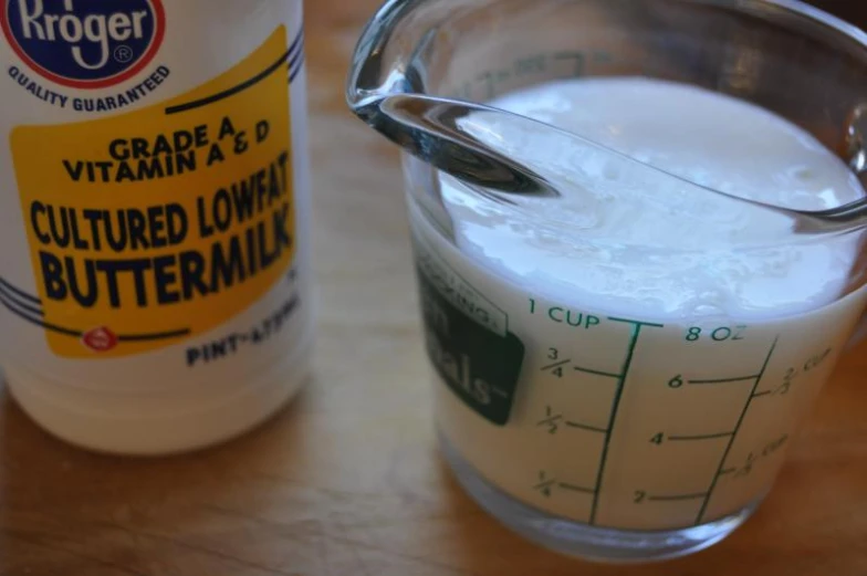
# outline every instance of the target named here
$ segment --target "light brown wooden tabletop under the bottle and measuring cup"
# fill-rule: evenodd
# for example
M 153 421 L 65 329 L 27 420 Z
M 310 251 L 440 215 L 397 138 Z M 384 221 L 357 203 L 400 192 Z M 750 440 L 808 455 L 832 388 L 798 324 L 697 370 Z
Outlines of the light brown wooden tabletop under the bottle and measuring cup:
M 760 512 L 690 558 L 564 558 L 459 490 L 433 441 L 396 150 L 343 103 L 375 3 L 309 8 L 314 381 L 260 430 L 165 460 L 75 450 L 0 395 L 0 575 L 867 575 L 867 346 L 839 367 Z

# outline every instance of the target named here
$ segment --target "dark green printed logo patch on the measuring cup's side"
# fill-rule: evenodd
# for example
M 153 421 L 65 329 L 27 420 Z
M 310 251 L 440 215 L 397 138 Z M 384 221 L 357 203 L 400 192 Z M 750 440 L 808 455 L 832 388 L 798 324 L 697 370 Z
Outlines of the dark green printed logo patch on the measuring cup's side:
M 445 262 L 418 251 L 418 276 L 428 354 L 463 402 L 497 426 L 509 421 L 524 345 L 508 332 L 508 316 Z

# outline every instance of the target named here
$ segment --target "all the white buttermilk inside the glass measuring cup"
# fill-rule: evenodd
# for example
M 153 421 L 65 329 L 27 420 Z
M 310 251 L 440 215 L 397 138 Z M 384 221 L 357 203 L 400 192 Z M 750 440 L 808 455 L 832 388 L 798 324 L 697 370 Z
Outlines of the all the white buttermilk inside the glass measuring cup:
M 769 203 L 864 195 L 801 128 L 697 88 L 573 81 L 492 104 Z M 796 241 L 786 218 L 542 130 L 489 116 L 466 128 L 542 165 L 566 196 L 515 210 L 445 179 L 460 250 L 411 207 L 439 294 L 524 347 L 508 422 L 494 423 L 479 407 L 509 384 L 474 379 L 479 362 L 451 342 L 442 301 L 425 296 L 435 364 L 453 377 L 437 387 L 447 439 L 514 498 L 599 526 L 685 527 L 761 499 L 865 306 L 863 290 L 838 300 L 856 241 Z M 771 248 L 737 250 L 755 244 Z

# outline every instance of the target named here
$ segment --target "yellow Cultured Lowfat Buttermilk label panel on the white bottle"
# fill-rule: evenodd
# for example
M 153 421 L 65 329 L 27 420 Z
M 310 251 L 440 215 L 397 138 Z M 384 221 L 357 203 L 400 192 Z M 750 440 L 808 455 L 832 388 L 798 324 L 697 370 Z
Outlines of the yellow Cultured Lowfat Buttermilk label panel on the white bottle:
M 261 299 L 296 250 L 280 27 L 171 101 L 20 126 L 15 177 L 49 346 L 125 357 L 213 329 Z

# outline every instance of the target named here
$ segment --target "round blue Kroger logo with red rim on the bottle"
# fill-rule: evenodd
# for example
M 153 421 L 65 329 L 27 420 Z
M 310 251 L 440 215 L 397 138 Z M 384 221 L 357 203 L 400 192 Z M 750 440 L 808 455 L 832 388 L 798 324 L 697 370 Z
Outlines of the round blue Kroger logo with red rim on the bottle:
M 0 0 L 12 50 L 42 76 L 76 88 L 119 84 L 156 55 L 161 0 Z

